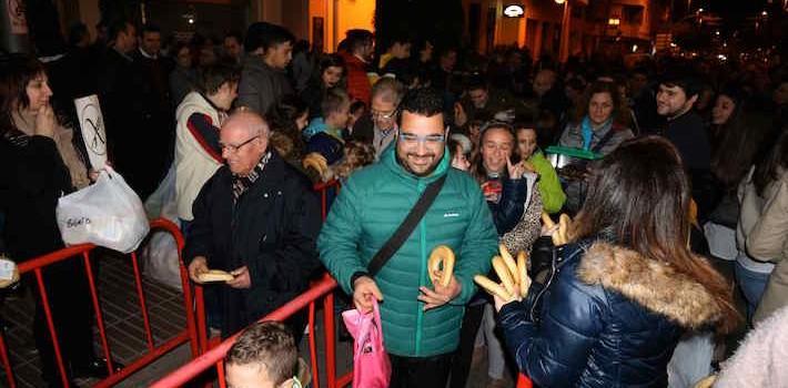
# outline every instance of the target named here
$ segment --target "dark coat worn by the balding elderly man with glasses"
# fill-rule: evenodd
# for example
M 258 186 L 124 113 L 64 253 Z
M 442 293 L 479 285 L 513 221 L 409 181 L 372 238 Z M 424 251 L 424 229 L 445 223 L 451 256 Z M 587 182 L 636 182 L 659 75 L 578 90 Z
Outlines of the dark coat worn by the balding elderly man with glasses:
M 262 318 L 309 287 L 320 268 L 317 195 L 302 173 L 272 153 L 262 175 L 233 204 L 232 174 L 222 166 L 193 205 L 183 257 L 205 256 L 211 269 L 246 266 L 249 289 L 221 286 L 222 334 Z

